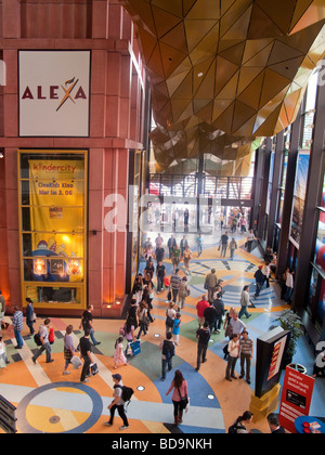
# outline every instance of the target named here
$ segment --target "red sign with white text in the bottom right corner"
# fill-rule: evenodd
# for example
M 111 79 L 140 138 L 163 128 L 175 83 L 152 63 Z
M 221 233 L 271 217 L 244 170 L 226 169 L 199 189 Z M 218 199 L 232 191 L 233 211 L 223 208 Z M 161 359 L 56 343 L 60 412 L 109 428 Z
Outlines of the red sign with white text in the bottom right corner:
M 309 415 L 314 382 L 314 378 L 286 367 L 278 420 L 287 431 L 295 433 L 296 418 Z

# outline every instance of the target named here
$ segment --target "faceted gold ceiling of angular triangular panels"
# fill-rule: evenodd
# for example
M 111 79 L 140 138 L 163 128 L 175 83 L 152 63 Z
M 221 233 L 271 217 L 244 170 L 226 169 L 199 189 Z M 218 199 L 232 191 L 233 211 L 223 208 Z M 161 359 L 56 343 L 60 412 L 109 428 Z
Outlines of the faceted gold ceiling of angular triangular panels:
M 160 170 L 203 153 L 237 159 L 295 120 L 324 55 L 325 0 L 120 2 L 136 25 Z

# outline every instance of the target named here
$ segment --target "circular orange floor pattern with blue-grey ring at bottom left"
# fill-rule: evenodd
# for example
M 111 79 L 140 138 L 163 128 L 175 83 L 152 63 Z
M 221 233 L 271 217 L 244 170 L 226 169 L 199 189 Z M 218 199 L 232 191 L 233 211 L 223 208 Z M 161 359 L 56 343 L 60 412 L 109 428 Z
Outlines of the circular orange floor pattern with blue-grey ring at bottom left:
M 55 389 L 53 391 L 53 389 Z M 62 418 L 58 415 L 60 411 L 57 412 L 57 407 L 60 407 L 60 403 L 55 406 L 55 411 L 53 410 L 52 403 L 47 402 L 47 392 L 52 391 L 53 393 L 56 391 L 56 393 L 62 393 L 62 390 L 65 389 L 72 389 L 72 393 L 82 393 L 87 395 L 88 399 L 90 399 L 90 404 L 92 406 L 91 412 L 89 413 L 88 417 L 83 418 L 83 421 L 80 424 L 78 420 L 76 420 L 76 426 L 74 428 L 69 428 L 68 430 L 57 430 L 55 429 L 55 425 L 60 424 Z M 65 390 L 66 391 L 66 390 Z M 37 399 L 37 400 L 35 400 Z M 40 404 L 35 404 L 35 402 Z M 48 404 L 48 405 L 47 405 Z M 29 416 L 34 415 L 34 413 L 28 412 L 28 407 L 30 406 L 38 406 L 39 412 L 37 413 L 39 418 L 42 419 L 43 417 L 50 415 L 50 417 L 47 418 L 49 426 L 47 427 L 48 431 L 42 431 L 37 428 L 37 424 L 34 421 L 30 421 Z M 68 410 L 64 410 L 64 412 L 69 412 Z M 24 433 L 43 433 L 43 432 L 63 432 L 63 433 L 84 433 L 87 430 L 89 430 L 93 425 L 99 420 L 103 412 L 103 401 L 101 395 L 93 389 L 91 389 L 88 386 L 84 386 L 83 384 L 78 382 L 53 382 L 48 384 L 46 386 L 39 387 L 35 390 L 32 390 L 30 393 L 28 393 L 18 404 L 17 411 L 16 411 L 16 417 L 17 417 L 17 427 L 18 429 Z M 79 425 L 78 425 L 79 424 Z

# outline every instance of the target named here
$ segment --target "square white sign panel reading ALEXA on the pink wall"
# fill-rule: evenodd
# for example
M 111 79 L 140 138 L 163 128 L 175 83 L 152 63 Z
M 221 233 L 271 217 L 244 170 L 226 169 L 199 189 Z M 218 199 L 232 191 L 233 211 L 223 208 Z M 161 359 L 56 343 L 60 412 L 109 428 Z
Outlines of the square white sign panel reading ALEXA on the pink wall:
M 20 135 L 88 136 L 90 51 L 20 51 Z

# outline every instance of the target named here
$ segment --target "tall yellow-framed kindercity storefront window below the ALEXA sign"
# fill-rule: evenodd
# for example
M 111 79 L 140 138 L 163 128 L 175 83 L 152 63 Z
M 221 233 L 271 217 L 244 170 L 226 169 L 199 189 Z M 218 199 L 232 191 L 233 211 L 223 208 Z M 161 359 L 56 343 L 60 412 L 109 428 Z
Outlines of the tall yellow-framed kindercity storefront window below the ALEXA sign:
M 23 301 L 84 308 L 87 153 L 20 151 L 20 170 Z

